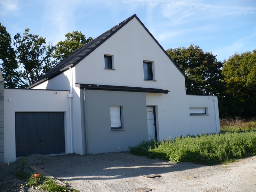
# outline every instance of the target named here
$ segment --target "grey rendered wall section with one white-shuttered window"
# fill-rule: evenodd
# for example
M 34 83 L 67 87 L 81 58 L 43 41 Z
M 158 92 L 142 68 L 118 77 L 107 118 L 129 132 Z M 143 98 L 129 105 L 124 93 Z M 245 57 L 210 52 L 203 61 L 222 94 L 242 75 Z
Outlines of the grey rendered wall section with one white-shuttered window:
M 126 151 L 148 139 L 146 94 L 86 90 L 88 153 Z M 110 106 L 122 106 L 125 130 L 111 131 Z

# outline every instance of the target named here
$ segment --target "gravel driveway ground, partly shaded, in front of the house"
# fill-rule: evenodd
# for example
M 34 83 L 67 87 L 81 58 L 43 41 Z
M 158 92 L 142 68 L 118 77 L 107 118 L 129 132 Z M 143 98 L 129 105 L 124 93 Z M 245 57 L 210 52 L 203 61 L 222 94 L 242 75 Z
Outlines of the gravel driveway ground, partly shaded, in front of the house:
M 136 188 L 151 188 L 153 192 L 256 191 L 256 156 L 225 166 L 171 163 L 134 156 L 129 152 L 60 156 L 34 154 L 26 159 L 27 165 L 37 165 L 81 192 L 131 192 Z M 39 189 L 26 188 L 24 181 L 9 174 L 17 171 L 18 167 L 18 161 L 9 167 L 3 164 L 0 166 L 1 191 L 38 192 Z M 25 172 L 30 173 L 32 170 L 26 167 Z M 162 177 L 142 177 L 148 174 Z

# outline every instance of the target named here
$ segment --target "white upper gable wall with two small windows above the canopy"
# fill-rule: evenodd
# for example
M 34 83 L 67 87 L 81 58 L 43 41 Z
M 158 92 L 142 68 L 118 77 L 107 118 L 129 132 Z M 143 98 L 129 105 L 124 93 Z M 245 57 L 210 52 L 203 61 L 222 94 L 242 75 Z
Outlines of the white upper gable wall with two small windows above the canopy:
M 104 69 L 104 54 L 113 55 L 116 70 Z M 143 60 L 154 62 L 156 81 L 144 81 Z M 184 76 L 136 18 L 76 65 L 76 83 L 172 89 L 185 94 Z

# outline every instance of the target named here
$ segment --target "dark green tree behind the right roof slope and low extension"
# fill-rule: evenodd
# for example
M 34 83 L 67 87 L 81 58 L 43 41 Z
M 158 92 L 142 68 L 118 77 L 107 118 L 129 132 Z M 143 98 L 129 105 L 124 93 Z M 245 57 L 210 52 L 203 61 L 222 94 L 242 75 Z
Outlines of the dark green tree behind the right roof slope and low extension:
M 166 52 L 185 74 L 187 94 L 220 95 L 223 63 L 211 52 L 203 52 L 199 46 L 168 49 Z

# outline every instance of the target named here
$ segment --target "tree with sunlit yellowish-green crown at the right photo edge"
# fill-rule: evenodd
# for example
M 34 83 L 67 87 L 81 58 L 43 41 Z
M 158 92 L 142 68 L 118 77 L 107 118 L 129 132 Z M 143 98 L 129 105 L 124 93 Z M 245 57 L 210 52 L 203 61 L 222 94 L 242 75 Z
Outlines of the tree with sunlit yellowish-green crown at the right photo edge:
M 256 116 L 256 50 L 235 53 L 223 66 L 225 116 Z

